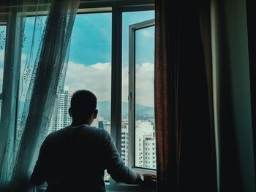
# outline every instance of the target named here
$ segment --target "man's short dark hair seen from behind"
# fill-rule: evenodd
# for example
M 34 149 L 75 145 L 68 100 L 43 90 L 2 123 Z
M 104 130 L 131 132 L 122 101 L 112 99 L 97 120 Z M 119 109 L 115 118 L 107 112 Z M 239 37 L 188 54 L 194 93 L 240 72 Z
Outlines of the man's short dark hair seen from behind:
M 89 118 L 96 107 L 97 98 L 91 91 L 78 90 L 72 95 L 70 108 L 73 119 Z

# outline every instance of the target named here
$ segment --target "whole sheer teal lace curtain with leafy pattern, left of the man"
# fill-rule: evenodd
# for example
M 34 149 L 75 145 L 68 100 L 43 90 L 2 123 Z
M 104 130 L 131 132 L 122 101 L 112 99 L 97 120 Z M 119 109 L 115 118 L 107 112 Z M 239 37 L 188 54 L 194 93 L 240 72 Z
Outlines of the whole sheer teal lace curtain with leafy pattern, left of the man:
M 67 69 L 79 0 L 1 4 L 6 20 L 0 122 L 0 191 L 29 191 Z M 1 50 L 1 51 L 3 51 Z

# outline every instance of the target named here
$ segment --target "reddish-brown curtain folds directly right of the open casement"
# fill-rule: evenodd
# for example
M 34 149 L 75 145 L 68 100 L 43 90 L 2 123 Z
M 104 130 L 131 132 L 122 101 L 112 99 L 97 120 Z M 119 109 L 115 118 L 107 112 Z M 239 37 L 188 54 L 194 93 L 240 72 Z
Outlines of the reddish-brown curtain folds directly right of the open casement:
M 167 9 L 168 7 L 168 9 Z M 156 1 L 155 117 L 157 138 L 157 191 L 176 191 L 180 156 L 178 113 L 179 23 L 167 1 Z M 171 15 L 169 15 L 169 13 Z M 170 23 L 173 30 L 170 31 Z M 172 35 L 170 35 L 172 33 Z M 172 45 L 170 47 L 170 45 Z M 170 50 L 171 49 L 171 50 Z M 170 62 L 176 65 L 169 65 Z M 172 128 L 170 128 L 172 127 Z M 174 145 L 170 145 L 170 144 Z M 173 155 L 175 154 L 175 155 Z M 169 186 L 167 186 L 169 185 Z

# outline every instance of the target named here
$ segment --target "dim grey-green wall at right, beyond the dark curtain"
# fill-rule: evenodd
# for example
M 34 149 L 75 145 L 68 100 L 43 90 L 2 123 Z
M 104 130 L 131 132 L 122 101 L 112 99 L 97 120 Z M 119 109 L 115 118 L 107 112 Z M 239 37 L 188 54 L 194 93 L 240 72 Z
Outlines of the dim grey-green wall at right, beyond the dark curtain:
M 255 191 L 246 1 L 211 1 L 211 6 L 219 187 Z

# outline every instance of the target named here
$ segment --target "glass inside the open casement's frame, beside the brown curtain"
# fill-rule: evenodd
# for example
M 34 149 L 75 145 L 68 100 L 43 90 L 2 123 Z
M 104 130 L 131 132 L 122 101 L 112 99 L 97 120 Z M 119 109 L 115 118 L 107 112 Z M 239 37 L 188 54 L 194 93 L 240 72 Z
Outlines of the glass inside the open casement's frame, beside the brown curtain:
M 154 26 L 135 31 L 135 166 L 156 169 Z

